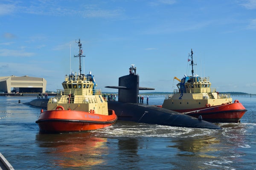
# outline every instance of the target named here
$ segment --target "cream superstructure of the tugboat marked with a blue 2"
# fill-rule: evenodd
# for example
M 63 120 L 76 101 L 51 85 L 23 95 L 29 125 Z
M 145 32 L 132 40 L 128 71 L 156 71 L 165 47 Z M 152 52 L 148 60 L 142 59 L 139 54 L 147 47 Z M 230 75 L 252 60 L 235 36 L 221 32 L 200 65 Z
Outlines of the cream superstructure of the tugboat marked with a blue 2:
M 185 82 L 185 89 L 180 89 L 180 83 L 177 87 L 179 89 L 175 90 L 173 95 L 166 97 L 163 108 L 185 110 L 232 103 L 230 94 L 218 94 L 215 88 L 211 88 L 209 77 L 191 77 Z

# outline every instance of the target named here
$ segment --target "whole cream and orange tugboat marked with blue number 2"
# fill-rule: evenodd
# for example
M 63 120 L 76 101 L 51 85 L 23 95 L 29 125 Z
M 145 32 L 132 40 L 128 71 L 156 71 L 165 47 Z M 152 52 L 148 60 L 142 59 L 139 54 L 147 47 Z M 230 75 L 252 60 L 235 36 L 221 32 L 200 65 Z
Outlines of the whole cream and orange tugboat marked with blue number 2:
M 193 51 L 189 55 L 192 65 L 192 76 L 177 77 L 178 89 L 174 94 L 166 97 L 162 107 L 184 113 L 189 116 L 202 118 L 208 122 L 238 123 L 247 111 L 244 106 L 235 100 L 232 102 L 230 94 L 219 94 L 215 88 L 211 88 L 209 77 L 194 75 Z

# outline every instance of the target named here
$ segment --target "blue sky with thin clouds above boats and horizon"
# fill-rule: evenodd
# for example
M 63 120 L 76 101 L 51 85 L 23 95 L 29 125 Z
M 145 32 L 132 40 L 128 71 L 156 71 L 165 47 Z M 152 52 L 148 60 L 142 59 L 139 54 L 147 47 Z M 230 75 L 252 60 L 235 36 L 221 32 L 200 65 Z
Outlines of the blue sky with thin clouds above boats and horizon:
M 172 92 L 175 76 L 191 75 L 192 48 L 212 88 L 256 94 L 256 0 L 0 0 L 0 77 L 62 89 L 70 54 L 79 71 L 79 39 L 102 91 L 117 92 L 104 87 L 134 64 L 140 87 Z

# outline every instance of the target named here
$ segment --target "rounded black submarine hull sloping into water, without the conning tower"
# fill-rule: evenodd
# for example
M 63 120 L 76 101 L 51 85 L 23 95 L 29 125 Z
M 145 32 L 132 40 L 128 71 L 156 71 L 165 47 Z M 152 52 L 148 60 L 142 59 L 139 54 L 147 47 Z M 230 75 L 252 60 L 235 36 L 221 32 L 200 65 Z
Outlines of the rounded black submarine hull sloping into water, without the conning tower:
M 108 109 L 114 110 L 119 120 L 174 127 L 221 129 L 204 120 L 153 105 L 109 101 Z

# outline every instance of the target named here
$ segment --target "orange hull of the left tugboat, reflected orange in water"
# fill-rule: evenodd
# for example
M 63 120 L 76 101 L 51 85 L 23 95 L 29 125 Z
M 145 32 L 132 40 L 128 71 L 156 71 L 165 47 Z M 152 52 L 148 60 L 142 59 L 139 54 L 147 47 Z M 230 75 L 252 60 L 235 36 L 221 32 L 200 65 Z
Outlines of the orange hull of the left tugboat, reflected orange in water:
M 52 110 L 40 113 L 36 123 L 43 133 L 81 132 L 102 129 L 113 125 L 117 116 L 113 110 L 108 115 L 84 111 Z

